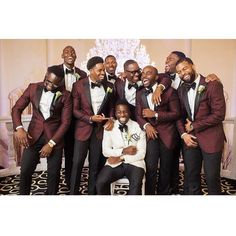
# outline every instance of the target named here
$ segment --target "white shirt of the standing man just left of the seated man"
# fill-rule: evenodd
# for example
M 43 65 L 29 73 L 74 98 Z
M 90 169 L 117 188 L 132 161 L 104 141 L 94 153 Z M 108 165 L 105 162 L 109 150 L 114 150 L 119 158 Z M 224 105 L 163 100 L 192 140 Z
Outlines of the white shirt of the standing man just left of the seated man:
M 93 112 L 96 115 L 102 105 L 106 93 L 102 85 L 100 86 L 100 88 L 99 87 L 91 88 L 91 83 L 94 82 L 89 77 L 89 88 L 91 94 L 92 107 L 93 107 Z

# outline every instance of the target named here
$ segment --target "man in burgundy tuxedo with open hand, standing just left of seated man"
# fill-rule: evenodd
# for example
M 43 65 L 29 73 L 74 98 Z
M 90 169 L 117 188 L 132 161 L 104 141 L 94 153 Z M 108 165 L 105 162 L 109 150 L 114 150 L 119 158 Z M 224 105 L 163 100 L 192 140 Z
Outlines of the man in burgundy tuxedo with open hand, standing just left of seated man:
M 103 129 L 110 129 L 114 117 L 113 84 L 104 81 L 105 68 L 101 57 L 88 60 L 90 74 L 77 81 L 72 90 L 73 114 L 76 118 L 75 147 L 70 194 L 78 194 L 84 161 L 89 152 L 88 194 L 96 194 L 96 179 L 101 165 Z

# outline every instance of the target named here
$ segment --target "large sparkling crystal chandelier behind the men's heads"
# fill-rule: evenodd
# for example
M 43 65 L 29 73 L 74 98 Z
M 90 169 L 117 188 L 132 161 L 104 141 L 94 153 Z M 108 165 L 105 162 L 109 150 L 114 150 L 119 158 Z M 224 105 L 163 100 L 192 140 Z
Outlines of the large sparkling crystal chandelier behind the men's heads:
M 143 68 L 150 63 L 150 56 L 146 47 L 140 44 L 139 39 L 96 39 L 95 46 L 87 54 L 86 61 L 81 63 L 81 68 L 87 71 L 87 61 L 93 56 L 100 56 L 105 59 L 108 55 L 114 55 L 117 60 L 117 72 L 123 71 L 123 64 L 126 60 L 133 59 Z

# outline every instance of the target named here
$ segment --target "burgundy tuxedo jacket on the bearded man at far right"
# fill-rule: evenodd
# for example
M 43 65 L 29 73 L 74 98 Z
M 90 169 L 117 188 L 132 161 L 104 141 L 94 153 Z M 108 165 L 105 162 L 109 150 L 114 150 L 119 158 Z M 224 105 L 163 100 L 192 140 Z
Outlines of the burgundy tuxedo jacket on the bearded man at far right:
M 200 89 L 200 86 L 203 89 Z M 226 140 L 222 123 L 226 110 L 223 85 L 218 81 L 206 83 L 205 77 L 201 75 L 199 86 L 196 89 L 194 121 L 192 122 L 194 130 L 191 134 L 197 137 L 197 142 L 204 152 L 220 152 Z M 178 93 L 182 117 L 178 120 L 177 126 L 182 135 L 186 132 L 184 127 L 186 118 L 192 120 L 192 116 L 188 103 L 188 91 L 184 83 Z

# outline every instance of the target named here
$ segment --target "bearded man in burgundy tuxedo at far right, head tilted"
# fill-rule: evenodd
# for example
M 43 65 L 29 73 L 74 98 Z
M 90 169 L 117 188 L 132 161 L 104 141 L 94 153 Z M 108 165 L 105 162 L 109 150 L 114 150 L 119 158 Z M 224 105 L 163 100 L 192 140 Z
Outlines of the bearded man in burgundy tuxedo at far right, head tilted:
M 209 194 L 221 194 L 220 163 L 225 134 L 223 85 L 206 83 L 190 58 L 180 59 L 176 71 L 184 83 L 178 93 L 182 117 L 177 125 L 184 141 L 184 166 L 188 194 L 201 194 L 202 162 Z

